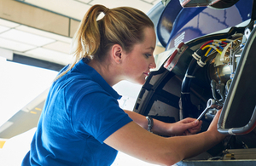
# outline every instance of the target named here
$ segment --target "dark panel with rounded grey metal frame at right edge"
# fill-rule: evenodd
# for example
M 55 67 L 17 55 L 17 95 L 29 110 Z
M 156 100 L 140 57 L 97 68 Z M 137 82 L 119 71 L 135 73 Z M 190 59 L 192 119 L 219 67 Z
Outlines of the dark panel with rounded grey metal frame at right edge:
M 247 39 L 235 77 L 230 84 L 224 109 L 219 117 L 218 131 L 225 135 L 245 135 L 256 126 L 255 51 L 256 29 Z M 242 115 L 242 116 L 241 116 Z

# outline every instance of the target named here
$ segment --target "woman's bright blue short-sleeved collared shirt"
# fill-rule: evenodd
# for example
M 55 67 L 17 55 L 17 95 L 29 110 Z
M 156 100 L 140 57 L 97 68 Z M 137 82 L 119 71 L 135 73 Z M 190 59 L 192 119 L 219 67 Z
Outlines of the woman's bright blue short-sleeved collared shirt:
M 22 165 L 111 165 L 117 151 L 103 141 L 131 122 L 119 108 L 119 98 L 80 60 L 50 88 Z

